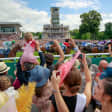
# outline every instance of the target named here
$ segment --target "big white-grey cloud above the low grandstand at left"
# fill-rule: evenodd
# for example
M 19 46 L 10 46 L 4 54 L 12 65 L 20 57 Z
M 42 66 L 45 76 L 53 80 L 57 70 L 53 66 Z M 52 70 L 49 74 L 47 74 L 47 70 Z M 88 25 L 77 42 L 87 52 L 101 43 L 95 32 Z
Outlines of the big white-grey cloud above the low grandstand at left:
M 23 0 L 0 0 L 0 21 L 20 22 L 24 31 L 38 32 L 50 18 L 45 11 L 28 8 Z

